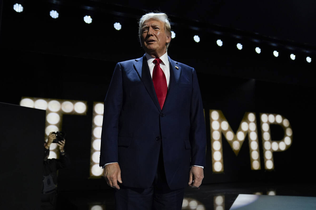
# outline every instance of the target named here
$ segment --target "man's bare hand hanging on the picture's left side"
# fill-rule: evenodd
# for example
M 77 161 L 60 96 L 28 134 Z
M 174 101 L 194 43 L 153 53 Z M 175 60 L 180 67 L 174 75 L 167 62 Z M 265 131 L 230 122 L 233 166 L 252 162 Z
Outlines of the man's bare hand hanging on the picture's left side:
M 118 182 L 122 184 L 121 169 L 118 163 L 110 163 L 104 167 L 104 179 L 107 185 L 119 190 Z

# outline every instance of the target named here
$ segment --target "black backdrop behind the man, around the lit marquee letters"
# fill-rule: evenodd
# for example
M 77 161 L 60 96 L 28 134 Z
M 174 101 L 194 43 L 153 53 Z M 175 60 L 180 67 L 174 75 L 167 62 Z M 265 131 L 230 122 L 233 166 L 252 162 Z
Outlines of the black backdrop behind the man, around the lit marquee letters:
M 57 5 L 60 16 L 54 20 L 48 12 L 52 5 L 57 7 L 54 4 L 39 7 L 25 2 L 22 13 L 16 13 L 12 5 L 3 4 L 1 102 L 19 104 L 22 96 L 88 101 L 86 116 L 63 117 L 66 150 L 72 164 L 60 171 L 59 187 L 62 190 L 106 188 L 104 180 L 88 179 L 92 106 L 94 101 L 104 100 L 115 64 L 143 55 L 137 41 L 137 18 L 144 11 L 128 5 L 105 7 L 100 3 L 100 7 L 87 9 L 80 6 L 84 4 L 71 7 L 61 2 Z M 86 14 L 93 18 L 92 24 L 83 22 Z M 171 16 L 176 37 L 168 55 L 197 70 L 208 136 L 204 183 L 311 181 L 313 176 L 309 171 L 315 161 L 316 146 L 312 128 L 315 65 L 313 60 L 307 63 L 305 58 L 313 59 L 313 46 L 214 26 L 202 19 L 196 22 L 188 20 L 188 15 Z M 113 28 L 117 21 L 122 24 L 120 31 Z M 194 23 L 198 27 L 194 28 Z M 201 37 L 201 42 L 193 41 L 195 34 Z M 222 47 L 216 45 L 217 39 L 223 41 Z M 236 48 L 238 42 L 243 44 L 242 50 Z M 261 48 L 260 54 L 254 50 L 257 46 Z M 273 56 L 273 50 L 279 51 L 279 57 Z M 295 60 L 290 60 L 291 53 L 296 55 Z M 236 157 L 223 137 L 225 171 L 212 173 L 209 109 L 222 110 L 234 132 L 245 112 L 255 112 L 258 122 L 259 113 L 281 114 L 291 123 L 293 144 L 284 152 L 275 152 L 275 170 L 265 171 L 259 137 L 262 169 L 252 171 L 246 142 Z M 271 126 L 271 132 L 272 140 L 283 137 L 283 130 L 278 127 Z

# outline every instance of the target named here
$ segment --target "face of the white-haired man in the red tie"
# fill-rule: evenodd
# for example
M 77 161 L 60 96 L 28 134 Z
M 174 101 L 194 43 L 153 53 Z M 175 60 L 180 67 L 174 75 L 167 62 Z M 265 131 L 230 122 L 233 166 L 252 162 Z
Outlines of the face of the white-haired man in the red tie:
M 145 20 L 142 26 L 142 46 L 146 53 L 160 57 L 166 52 L 166 43 L 171 40 L 165 31 L 165 24 L 159 20 Z

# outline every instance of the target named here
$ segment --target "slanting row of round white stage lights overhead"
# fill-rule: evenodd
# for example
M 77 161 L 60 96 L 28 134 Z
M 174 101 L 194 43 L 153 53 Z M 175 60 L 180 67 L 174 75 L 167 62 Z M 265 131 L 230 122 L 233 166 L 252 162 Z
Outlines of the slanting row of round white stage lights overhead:
M 22 12 L 22 11 L 23 11 L 23 6 L 22 6 L 21 4 L 16 3 L 15 5 L 13 5 L 13 9 L 14 9 L 16 12 Z M 56 18 L 59 17 L 59 13 L 58 13 L 56 10 L 50 11 L 49 14 L 50 14 L 50 16 L 51 16 L 52 18 L 54 18 L 54 19 L 56 19 Z M 90 15 L 84 16 L 84 17 L 83 17 L 83 20 L 84 20 L 84 22 L 86 22 L 87 24 L 92 23 L 92 18 L 91 18 Z M 116 22 L 116 23 L 114 23 L 114 28 L 119 31 L 119 30 L 122 29 L 122 25 L 121 25 L 119 22 Z M 174 32 L 174 31 L 171 31 L 171 38 L 175 38 L 175 37 L 176 37 L 175 32 Z M 193 40 L 198 43 L 198 42 L 200 42 L 200 37 L 199 37 L 198 35 L 195 35 L 195 36 L 193 37 Z M 220 39 L 218 39 L 218 40 L 216 41 L 216 43 L 217 43 L 217 45 L 220 46 L 220 47 L 223 46 L 223 42 L 222 42 L 222 40 L 220 40 Z M 242 44 L 241 44 L 241 43 L 237 43 L 237 48 L 238 48 L 239 50 L 241 50 L 241 49 L 242 49 Z M 258 53 L 258 54 L 261 53 L 261 49 L 260 49 L 259 47 L 256 47 L 256 48 L 255 48 L 255 51 L 256 51 L 256 53 Z M 274 51 L 273 51 L 273 55 L 274 55 L 275 57 L 278 57 L 278 56 L 279 56 L 279 52 L 276 51 L 276 50 L 274 50 Z M 295 57 L 296 57 L 295 54 L 290 54 L 290 58 L 291 58 L 292 60 L 295 60 Z M 306 61 L 307 61 L 308 63 L 310 63 L 310 62 L 312 62 L 312 58 L 309 57 L 309 56 L 307 56 L 307 57 L 306 57 Z

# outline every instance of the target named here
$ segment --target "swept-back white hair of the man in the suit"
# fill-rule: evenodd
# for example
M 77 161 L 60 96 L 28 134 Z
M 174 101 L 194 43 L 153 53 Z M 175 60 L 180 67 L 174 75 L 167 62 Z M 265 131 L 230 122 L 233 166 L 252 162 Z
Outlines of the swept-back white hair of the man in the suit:
M 147 13 L 144 14 L 140 19 L 139 19 L 139 26 L 138 26 L 138 37 L 139 37 L 139 41 L 140 41 L 140 45 L 142 46 L 142 26 L 143 23 L 146 20 L 149 19 L 154 19 L 154 20 L 159 20 L 161 22 L 163 22 L 165 24 L 165 32 L 171 37 L 171 26 L 170 26 L 170 22 L 168 19 L 168 15 L 165 13 Z M 169 47 L 169 43 L 167 43 L 167 49 Z

